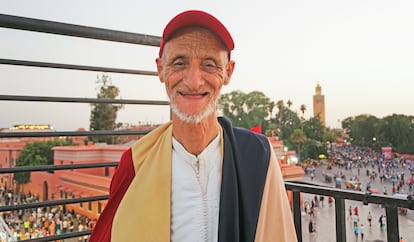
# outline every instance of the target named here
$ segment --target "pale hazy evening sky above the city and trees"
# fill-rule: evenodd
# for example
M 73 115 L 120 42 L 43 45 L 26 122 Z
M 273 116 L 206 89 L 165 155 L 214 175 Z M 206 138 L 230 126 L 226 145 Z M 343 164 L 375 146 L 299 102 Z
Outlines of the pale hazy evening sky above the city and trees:
M 261 91 L 313 116 L 319 83 L 326 124 L 352 116 L 414 115 L 412 0 L 2 1 L 1 14 L 161 36 L 176 14 L 207 11 L 235 41 L 236 68 L 222 93 Z M 0 58 L 155 71 L 157 47 L 0 28 Z M 0 95 L 94 98 L 104 73 L 0 65 Z M 121 98 L 167 100 L 155 76 L 107 73 Z M 0 101 L 0 128 L 89 128 L 89 104 Z M 117 122 L 162 123 L 166 106 L 127 105 Z

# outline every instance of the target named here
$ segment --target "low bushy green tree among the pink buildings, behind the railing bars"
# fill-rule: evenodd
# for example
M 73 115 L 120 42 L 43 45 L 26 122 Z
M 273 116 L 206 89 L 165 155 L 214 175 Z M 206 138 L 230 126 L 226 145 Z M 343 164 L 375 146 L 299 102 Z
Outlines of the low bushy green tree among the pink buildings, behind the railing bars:
M 55 146 L 73 145 L 72 140 L 54 139 L 51 141 L 27 143 L 16 160 L 16 166 L 53 165 L 53 150 Z M 18 184 L 30 181 L 30 172 L 15 173 L 13 179 Z

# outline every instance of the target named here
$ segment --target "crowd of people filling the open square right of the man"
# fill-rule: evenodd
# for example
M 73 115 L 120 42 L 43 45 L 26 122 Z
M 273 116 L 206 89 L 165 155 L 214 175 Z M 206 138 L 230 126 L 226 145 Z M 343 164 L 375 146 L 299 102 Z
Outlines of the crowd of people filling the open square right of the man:
M 405 160 L 399 157 L 384 160 L 381 153 L 373 151 L 369 148 L 361 148 L 355 146 L 342 146 L 332 149 L 333 162 L 328 165 L 314 164 L 313 167 L 307 169 L 307 179 L 326 184 L 327 182 L 336 183 L 335 178 L 339 178 L 341 185 L 346 181 L 355 181 L 362 184 L 362 189 L 372 193 L 382 193 L 385 195 L 414 195 L 413 194 L 413 161 Z M 318 173 L 319 172 L 319 173 Z M 328 174 L 333 176 L 332 181 L 327 180 Z M 346 186 L 342 186 L 346 188 Z M 351 188 L 352 189 L 352 188 Z M 359 189 L 355 189 L 359 190 Z M 328 197 L 328 204 L 332 206 L 333 198 Z M 307 197 L 304 200 L 303 211 L 307 215 L 308 232 L 316 234 L 318 211 L 323 209 L 323 196 Z M 386 231 L 387 218 L 380 211 L 371 213 L 366 211 L 364 207 L 364 217 L 361 217 L 360 208 L 357 203 L 350 203 L 348 208 L 349 221 L 352 226 L 356 240 L 359 238 L 364 241 L 366 232 L 371 231 L 373 221 L 378 221 L 380 231 Z M 399 210 L 400 214 L 402 210 Z M 403 237 L 400 241 L 404 241 Z

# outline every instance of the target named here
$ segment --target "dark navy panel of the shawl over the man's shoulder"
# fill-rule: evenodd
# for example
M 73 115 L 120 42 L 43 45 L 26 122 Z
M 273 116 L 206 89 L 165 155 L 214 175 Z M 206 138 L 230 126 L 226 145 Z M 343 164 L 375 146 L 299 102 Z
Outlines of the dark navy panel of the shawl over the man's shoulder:
M 224 159 L 218 241 L 254 241 L 269 167 L 269 141 L 233 127 L 226 118 L 219 118 L 219 123 L 224 133 Z

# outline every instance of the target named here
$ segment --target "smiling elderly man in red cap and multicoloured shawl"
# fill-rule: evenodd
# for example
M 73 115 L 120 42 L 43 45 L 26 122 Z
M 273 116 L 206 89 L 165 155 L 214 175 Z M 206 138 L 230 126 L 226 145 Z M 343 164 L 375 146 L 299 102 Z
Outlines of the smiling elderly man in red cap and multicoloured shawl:
M 297 241 L 269 141 L 217 117 L 233 48 L 208 13 L 167 24 L 156 64 L 172 120 L 123 154 L 90 241 Z

